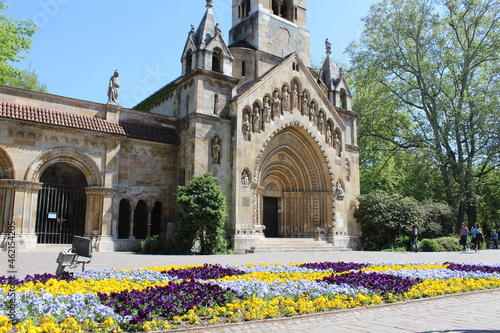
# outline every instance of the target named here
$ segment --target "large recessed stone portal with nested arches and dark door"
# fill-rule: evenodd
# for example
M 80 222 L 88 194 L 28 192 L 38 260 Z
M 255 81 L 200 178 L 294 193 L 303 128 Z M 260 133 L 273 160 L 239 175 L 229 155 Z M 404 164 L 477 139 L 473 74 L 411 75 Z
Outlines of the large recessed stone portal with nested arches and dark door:
M 317 141 L 298 125 L 277 132 L 260 154 L 259 220 L 266 237 L 331 236 L 330 163 Z

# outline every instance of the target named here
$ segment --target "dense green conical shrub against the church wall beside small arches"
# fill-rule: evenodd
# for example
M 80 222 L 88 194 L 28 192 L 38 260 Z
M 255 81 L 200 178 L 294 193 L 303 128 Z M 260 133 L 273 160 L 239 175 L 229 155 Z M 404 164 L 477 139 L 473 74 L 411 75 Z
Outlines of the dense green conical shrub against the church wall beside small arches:
M 178 239 L 184 253 L 224 253 L 227 241 L 224 239 L 226 200 L 217 185 L 217 178 L 206 172 L 193 177 L 186 186 L 179 186 Z

